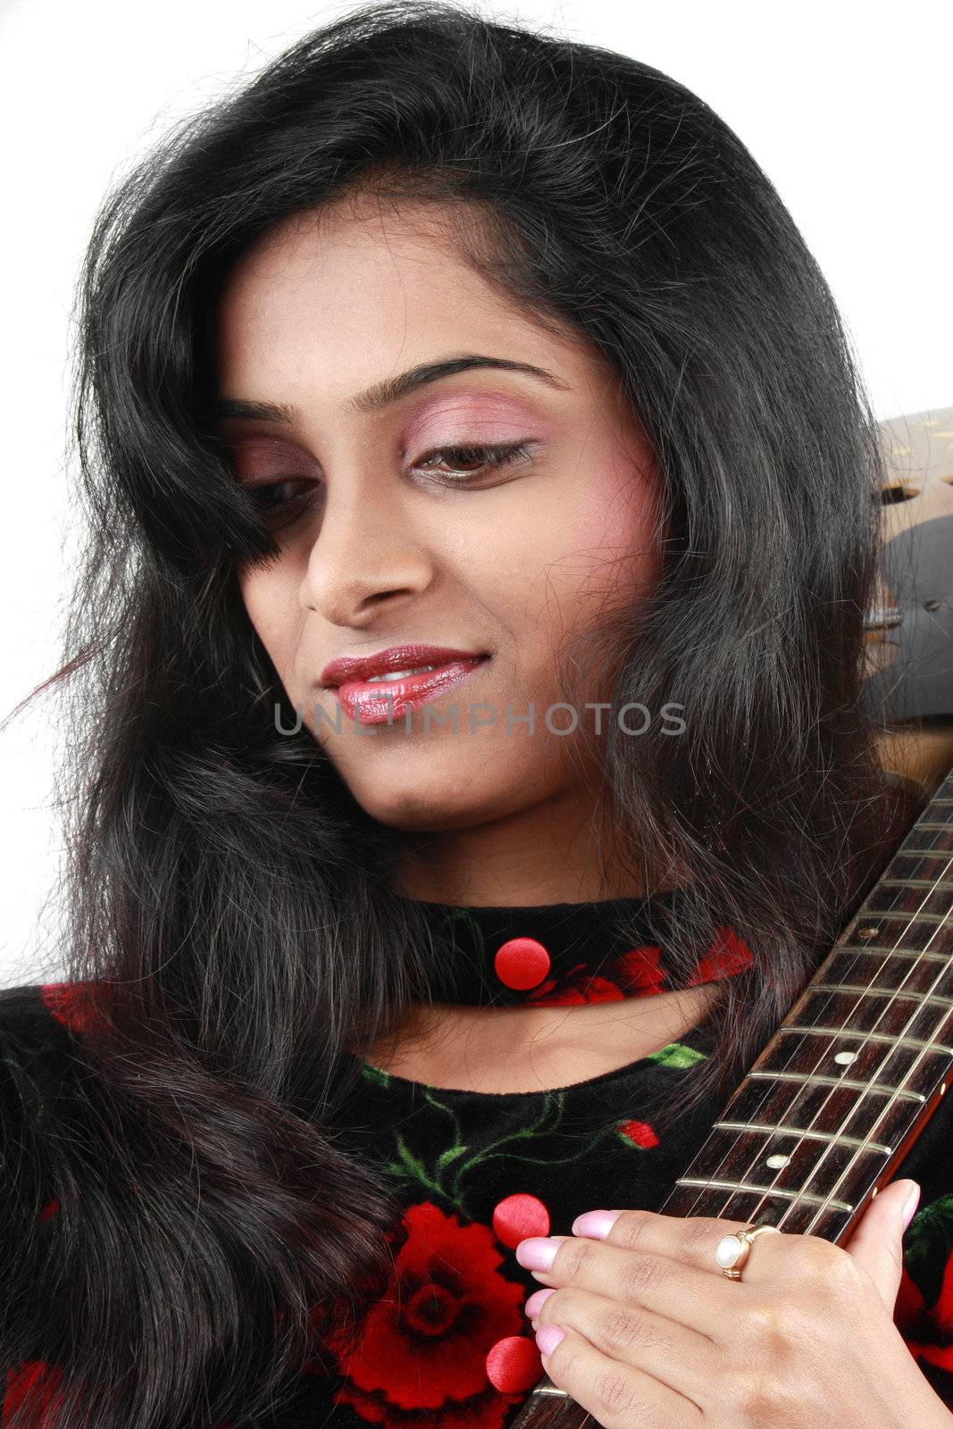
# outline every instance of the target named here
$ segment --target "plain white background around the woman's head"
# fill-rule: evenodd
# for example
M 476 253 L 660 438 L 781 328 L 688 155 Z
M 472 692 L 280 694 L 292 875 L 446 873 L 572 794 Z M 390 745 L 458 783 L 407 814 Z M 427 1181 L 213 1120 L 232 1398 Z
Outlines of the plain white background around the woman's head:
M 57 667 L 74 532 L 69 314 L 99 200 L 174 117 L 351 9 L 0 0 L 0 722 Z M 953 6 L 484 0 L 480 10 L 620 50 L 693 89 L 764 167 L 816 254 L 876 416 L 953 403 Z M 39 697 L 0 733 L 0 985 L 57 967 L 54 714 Z

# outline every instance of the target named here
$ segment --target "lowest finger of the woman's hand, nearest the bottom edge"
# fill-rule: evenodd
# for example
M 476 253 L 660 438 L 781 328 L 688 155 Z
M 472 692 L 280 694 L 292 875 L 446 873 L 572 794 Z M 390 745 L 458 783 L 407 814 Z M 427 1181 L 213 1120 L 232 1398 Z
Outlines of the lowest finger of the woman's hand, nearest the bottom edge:
M 542 1326 L 537 1343 L 543 1369 L 604 1429 L 700 1429 L 697 1405 L 632 1365 L 620 1365 L 576 1330 L 552 1345 L 553 1326 Z

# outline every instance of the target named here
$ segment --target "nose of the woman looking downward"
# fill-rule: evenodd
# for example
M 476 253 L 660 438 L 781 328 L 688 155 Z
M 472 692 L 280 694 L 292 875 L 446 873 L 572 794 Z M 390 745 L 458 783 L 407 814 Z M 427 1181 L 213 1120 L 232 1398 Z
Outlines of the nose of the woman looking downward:
M 383 604 L 426 589 L 433 560 L 400 503 L 337 490 L 327 500 L 307 557 L 300 603 L 331 624 L 360 626 Z

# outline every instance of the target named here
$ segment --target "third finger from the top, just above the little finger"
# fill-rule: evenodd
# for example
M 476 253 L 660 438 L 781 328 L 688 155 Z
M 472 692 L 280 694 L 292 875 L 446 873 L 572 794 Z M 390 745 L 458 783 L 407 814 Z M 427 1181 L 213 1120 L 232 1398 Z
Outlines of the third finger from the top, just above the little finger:
M 609 1359 L 653 1375 L 699 1408 L 706 1386 L 710 1390 L 717 1376 L 717 1356 L 707 1335 L 590 1290 L 553 1290 L 532 1323 L 534 1330 L 540 1325 L 576 1330 Z

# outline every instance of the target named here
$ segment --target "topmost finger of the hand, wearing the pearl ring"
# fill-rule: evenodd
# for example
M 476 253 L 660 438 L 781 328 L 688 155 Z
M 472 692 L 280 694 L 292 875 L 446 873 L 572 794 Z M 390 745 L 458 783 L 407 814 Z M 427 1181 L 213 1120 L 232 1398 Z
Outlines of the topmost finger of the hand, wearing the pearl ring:
M 586 1215 L 616 1219 L 610 1226 L 606 1222 L 586 1222 Z M 714 1259 L 714 1250 L 723 1236 L 736 1235 L 750 1225 L 749 1220 L 729 1220 L 723 1216 L 662 1216 L 654 1210 L 620 1210 L 620 1212 L 587 1212 L 577 1216 L 577 1225 L 590 1225 L 604 1233 L 597 1236 L 604 1245 L 620 1246 L 626 1250 L 642 1250 L 649 1255 L 670 1256 L 683 1265 L 694 1266 L 722 1278 L 722 1268 Z M 579 1232 L 577 1232 L 579 1233 Z M 586 1230 L 582 1232 L 587 1235 Z M 746 1280 L 772 1280 L 783 1269 L 792 1249 L 792 1242 L 804 1240 L 804 1236 L 759 1236 L 750 1249 L 744 1265 Z

